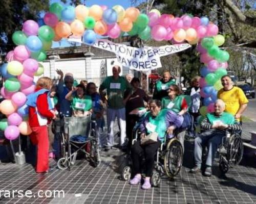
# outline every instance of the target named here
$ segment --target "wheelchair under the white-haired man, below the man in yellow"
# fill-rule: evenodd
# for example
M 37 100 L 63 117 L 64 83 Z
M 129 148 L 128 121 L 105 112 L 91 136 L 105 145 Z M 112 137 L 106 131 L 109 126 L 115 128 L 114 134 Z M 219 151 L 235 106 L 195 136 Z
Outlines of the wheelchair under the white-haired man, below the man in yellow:
M 231 130 L 226 130 L 226 136 L 218 148 L 219 168 L 227 173 L 229 168 L 239 165 L 243 158 L 244 146 L 241 135 Z

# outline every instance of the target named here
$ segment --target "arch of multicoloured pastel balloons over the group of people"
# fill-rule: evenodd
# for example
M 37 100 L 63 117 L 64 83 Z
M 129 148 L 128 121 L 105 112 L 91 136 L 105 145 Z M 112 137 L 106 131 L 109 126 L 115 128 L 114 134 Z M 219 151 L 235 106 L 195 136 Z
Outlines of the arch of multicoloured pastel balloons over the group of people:
M 27 20 L 22 31 L 13 33 L 12 40 L 17 46 L 7 54 L 8 63 L 1 67 L 5 80 L 1 95 L 5 100 L 0 104 L 0 111 L 7 119 L 0 121 L 0 129 L 5 131 L 7 139 L 14 140 L 19 134 L 31 133 L 26 100 L 27 95 L 35 90 L 34 76 L 44 73 L 44 67 L 39 62 L 47 58 L 46 50 L 51 48 L 52 41 L 71 35 L 78 38 L 82 36 L 83 42 L 89 45 L 94 44 L 98 36 L 115 39 L 123 35 L 123 32 L 130 36 L 138 35 L 142 40 L 172 40 L 174 43 L 187 41 L 192 45 L 197 44 L 200 61 L 204 63 L 200 70 L 204 106 L 200 112 L 205 116 L 207 112 L 213 111 L 217 91 L 222 88 L 220 78 L 227 74 L 229 54 L 219 48 L 225 39 L 218 35 L 218 26 L 207 17 L 199 18 L 191 14 L 181 17 L 161 15 L 156 9 L 144 14 L 137 8 L 124 10 L 119 5 L 113 8 L 78 5 L 74 8 L 53 3 L 50 12 L 45 14 L 39 24 Z

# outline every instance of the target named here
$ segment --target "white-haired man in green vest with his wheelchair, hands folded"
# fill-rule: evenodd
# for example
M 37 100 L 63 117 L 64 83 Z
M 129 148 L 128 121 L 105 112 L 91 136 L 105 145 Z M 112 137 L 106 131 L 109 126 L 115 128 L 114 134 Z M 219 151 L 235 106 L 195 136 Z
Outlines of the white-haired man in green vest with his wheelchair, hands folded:
M 234 159 L 233 157 L 239 157 L 237 159 L 241 161 L 241 138 L 238 135 L 234 135 L 234 137 L 231 137 L 233 138 L 232 141 L 229 139 L 229 132 L 241 131 L 241 125 L 236 121 L 232 114 L 224 112 L 225 103 L 223 100 L 217 99 L 214 108 L 215 112 L 208 113 L 203 119 L 201 123 L 201 130 L 203 132 L 195 139 L 195 167 L 190 170 L 191 173 L 201 171 L 202 149 L 204 146 L 207 146 L 208 149 L 206 169 L 204 172 L 205 176 L 211 176 L 212 174 L 211 166 L 218 147 L 221 156 L 220 165 L 222 165 L 221 162 L 223 162 L 223 159 L 226 160 L 226 163 L 228 164 Z M 234 139 L 237 140 L 236 144 L 234 144 Z M 223 142 L 224 140 L 225 142 Z M 225 157 L 223 157 L 222 154 L 223 149 L 225 151 Z M 236 156 L 234 156 L 233 152 L 237 152 L 238 154 L 236 153 Z M 232 157 L 232 159 L 230 157 Z M 239 163 L 240 161 L 238 160 L 233 163 Z

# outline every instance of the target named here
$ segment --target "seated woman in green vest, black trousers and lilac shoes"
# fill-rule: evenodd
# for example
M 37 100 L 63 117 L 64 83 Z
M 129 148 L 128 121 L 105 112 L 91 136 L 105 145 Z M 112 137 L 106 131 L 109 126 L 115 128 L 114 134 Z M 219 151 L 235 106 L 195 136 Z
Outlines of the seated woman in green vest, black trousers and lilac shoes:
M 174 130 L 181 126 L 183 117 L 171 110 L 162 109 L 161 101 L 150 100 L 148 102 L 150 112 L 147 112 L 140 123 L 140 141 L 135 141 L 132 149 L 132 164 L 134 178 L 131 185 L 139 184 L 142 173 L 142 157 L 145 157 L 145 179 L 143 189 L 151 188 L 150 178 L 153 173 L 155 156 L 161 143 L 165 142 L 166 131 L 172 135 Z

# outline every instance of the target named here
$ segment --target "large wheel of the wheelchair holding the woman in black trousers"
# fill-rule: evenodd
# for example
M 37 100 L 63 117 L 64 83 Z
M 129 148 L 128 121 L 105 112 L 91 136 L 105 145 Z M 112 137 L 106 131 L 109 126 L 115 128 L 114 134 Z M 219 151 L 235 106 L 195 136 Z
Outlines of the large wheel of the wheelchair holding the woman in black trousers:
M 171 139 L 166 147 L 164 155 L 164 170 L 168 177 L 176 176 L 182 167 L 183 150 L 177 139 Z

